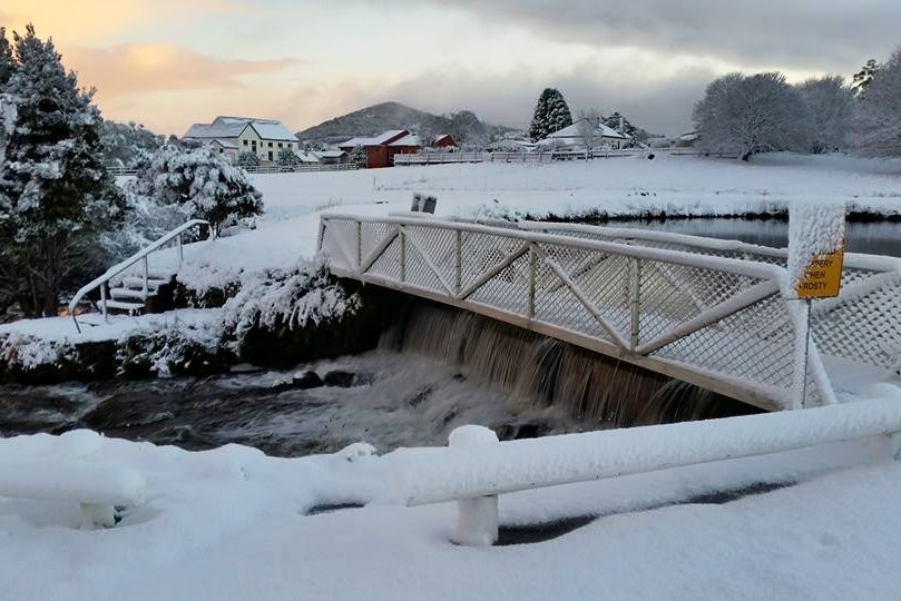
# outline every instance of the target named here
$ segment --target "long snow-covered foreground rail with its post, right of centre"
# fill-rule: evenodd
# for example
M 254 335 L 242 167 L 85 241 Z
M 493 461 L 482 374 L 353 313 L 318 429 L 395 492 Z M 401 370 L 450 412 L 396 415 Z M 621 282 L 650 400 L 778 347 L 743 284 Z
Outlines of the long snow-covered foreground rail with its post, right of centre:
M 704 422 L 498 443 L 462 426 L 448 449 L 389 455 L 390 496 L 409 506 L 458 502 L 454 542 L 498 539 L 498 495 L 677 466 L 764 455 L 901 432 L 901 398 Z

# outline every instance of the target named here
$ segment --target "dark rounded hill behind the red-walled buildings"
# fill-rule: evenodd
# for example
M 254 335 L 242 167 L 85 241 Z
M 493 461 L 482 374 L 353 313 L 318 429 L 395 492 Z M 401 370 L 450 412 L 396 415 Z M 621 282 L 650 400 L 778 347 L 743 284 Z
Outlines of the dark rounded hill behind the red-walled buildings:
M 298 131 L 297 137 L 303 142 L 335 144 L 355 136 L 375 136 L 390 129 L 409 129 L 423 140 L 439 134 L 450 134 L 458 144 L 481 146 L 508 128 L 486 124 L 469 110 L 441 116 L 400 102 L 382 102 Z

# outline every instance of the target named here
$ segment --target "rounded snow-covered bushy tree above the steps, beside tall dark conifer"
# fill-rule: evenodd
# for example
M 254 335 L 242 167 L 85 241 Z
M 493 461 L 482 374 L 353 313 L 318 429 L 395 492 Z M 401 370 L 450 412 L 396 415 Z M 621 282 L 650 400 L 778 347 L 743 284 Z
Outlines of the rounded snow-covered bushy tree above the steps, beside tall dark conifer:
M 215 231 L 263 213 L 263 196 L 247 173 L 206 146 L 164 146 L 138 171 L 130 191 L 163 206 L 180 207 L 186 218 L 206 219 Z

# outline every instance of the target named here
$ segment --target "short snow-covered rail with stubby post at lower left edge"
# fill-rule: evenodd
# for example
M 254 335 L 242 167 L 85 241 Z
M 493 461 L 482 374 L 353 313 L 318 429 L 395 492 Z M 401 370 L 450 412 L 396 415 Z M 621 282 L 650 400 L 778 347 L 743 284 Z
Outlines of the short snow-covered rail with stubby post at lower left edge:
M 115 506 L 139 505 L 146 487 L 139 473 L 121 465 L 0 457 L 0 496 L 78 503 L 82 528 L 115 525 Z

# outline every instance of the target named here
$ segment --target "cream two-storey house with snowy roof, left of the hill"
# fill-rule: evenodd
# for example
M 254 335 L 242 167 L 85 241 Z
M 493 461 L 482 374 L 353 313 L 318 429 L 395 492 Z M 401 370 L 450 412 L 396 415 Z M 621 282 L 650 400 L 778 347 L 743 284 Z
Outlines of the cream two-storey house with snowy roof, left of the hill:
M 281 150 L 297 151 L 300 141 L 281 121 L 251 117 L 216 117 L 212 124 L 194 124 L 184 136 L 208 145 L 233 161 L 242 152 L 253 152 L 274 162 Z

